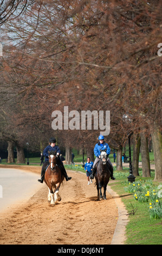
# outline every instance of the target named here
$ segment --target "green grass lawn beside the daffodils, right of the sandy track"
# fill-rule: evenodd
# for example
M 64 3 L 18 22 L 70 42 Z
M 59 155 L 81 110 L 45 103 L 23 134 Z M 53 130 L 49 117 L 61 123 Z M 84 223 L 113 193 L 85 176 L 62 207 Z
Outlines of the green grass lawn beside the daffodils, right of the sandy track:
M 151 220 L 149 214 L 150 200 L 146 203 L 140 203 L 138 200 L 134 199 L 134 193 L 125 192 L 124 187 L 126 187 L 129 182 L 126 178 L 120 178 L 121 174 L 118 178 L 118 173 L 119 172 L 114 172 L 116 180 L 112 184 L 109 184 L 109 186 L 121 196 L 121 200 L 125 204 L 129 214 L 129 222 L 126 226 L 127 240 L 125 243 L 127 245 L 161 245 L 162 218 Z M 142 178 L 142 176 L 138 176 L 135 182 L 141 180 L 144 181 L 144 184 L 147 184 L 149 180 L 153 180 L 153 176 L 154 172 L 152 172 L 152 178 Z M 152 186 L 157 187 L 158 185 L 157 182 L 153 182 Z

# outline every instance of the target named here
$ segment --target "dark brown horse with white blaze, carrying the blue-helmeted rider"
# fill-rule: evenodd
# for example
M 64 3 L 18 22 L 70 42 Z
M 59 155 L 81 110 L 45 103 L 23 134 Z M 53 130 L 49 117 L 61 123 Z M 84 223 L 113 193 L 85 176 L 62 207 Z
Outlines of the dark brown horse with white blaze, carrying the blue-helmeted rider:
M 100 150 L 101 151 L 101 150 Z M 106 187 L 109 182 L 109 178 L 111 176 L 111 172 L 109 170 L 108 164 L 107 164 L 107 154 L 106 151 L 101 151 L 101 159 L 98 162 L 98 166 L 96 168 L 95 172 L 95 180 L 96 180 L 96 186 L 98 190 L 98 198 L 101 199 L 107 199 L 106 198 Z M 102 191 L 101 188 L 103 187 L 103 197 L 102 197 Z M 100 191 L 100 193 L 99 193 Z

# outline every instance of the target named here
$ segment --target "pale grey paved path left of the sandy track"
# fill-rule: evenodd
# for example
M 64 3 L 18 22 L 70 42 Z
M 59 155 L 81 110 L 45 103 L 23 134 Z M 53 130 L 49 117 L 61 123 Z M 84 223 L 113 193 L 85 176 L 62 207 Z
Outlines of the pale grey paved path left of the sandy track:
M 34 195 L 40 175 L 18 169 L 0 168 L 0 211 Z

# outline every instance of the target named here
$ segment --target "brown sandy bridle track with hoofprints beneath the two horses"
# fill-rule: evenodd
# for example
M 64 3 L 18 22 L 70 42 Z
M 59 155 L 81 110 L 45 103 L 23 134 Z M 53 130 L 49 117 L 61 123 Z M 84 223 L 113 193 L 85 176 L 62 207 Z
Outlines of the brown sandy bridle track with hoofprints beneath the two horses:
M 30 166 L 18 168 L 35 173 L 41 170 L 40 167 Z M 43 182 L 40 190 L 26 203 L 1 214 L 1 245 L 111 244 L 118 221 L 115 200 L 107 194 L 107 200 L 98 201 L 94 182 L 87 185 L 86 175 L 67 173 L 72 180 L 64 181 L 60 187 L 62 200 L 59 204 L 50 206 L 48 187 Z

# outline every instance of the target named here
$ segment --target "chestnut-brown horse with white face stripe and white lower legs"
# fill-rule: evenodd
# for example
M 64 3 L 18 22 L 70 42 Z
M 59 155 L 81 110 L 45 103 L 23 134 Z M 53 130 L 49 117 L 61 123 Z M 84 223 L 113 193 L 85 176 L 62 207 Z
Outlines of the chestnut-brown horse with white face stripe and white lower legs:
M 61 201 L 59 195 L 59 188 L 64 180 L 64 176 L 61 174 L 60 168 L 57 166 L 56 151 L 48 151 L 49 154 L 49 166 L 44 174 L 44 181 L 46 182 L 49 190 L 48 200 L 50 204 L 55 205 L 57 201 Z

